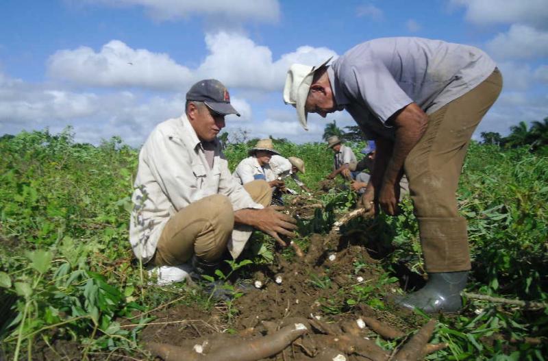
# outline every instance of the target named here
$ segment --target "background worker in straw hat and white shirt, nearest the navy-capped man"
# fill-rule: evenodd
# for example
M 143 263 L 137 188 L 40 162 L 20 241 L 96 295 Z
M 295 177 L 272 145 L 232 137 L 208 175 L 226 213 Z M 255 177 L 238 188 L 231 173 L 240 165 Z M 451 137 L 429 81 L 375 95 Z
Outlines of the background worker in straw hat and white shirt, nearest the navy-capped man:
M 279 155 L 279 152 L 274 149 L 271 139 L 259 140 L 255 147 L 249 149 L 247 154 L 249 157 L 243 159 L 232 173 L 236 182 L 247 184 L 253 182 L 253 180 L 263 179 L 268 182 L 273 192 L 284 188 L 284 181 L 277 179 L 270 166 L 271 157 Z M 278 201 L 273 201 L 273 203 L 279 205 Z

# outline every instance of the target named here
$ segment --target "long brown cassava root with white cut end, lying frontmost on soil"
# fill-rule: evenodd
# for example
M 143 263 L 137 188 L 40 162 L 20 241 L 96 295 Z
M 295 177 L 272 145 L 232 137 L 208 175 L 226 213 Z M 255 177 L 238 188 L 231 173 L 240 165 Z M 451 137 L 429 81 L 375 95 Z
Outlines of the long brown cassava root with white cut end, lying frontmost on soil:
M 256 361 L 279 353 L 306 331 L 305 325 L 296 323 L 264 337 L 212 345 L 213 351 L 207 354 L 196 347 L 190 351 L 160 343 L 149 343 L 148 349 L 165 361 Z

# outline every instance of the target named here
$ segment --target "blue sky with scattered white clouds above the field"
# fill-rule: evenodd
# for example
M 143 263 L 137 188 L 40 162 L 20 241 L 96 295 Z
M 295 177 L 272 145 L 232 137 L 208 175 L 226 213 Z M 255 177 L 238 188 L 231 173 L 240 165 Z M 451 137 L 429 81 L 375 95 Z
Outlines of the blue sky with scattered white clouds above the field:
M 232 140 L 321 141 L 346 112 L 310 114 L 282 99 L 290 64 L 320 64 L 373 38 L 418 36 L 479 47 L 503 91 L 480 132 L 548 116 L 548 0 L 2 0 L 0 134 L 73 127 L 75 140 L 139 147 L 184 111 L 200 79 L 219 79 L 241 116 Z

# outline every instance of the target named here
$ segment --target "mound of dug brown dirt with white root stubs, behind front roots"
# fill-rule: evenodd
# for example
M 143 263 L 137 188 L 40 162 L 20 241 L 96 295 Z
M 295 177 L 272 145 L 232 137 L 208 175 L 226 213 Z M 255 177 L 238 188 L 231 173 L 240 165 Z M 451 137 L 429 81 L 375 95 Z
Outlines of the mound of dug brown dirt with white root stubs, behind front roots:
M 410 328 L 405 323 L 402 327 L 397 315 L 377 314 L 364 303 L 347 301 L 353 287 L 382 284 L 379 277 L 385 274 L 378 261 L 354 241 L 314 234 L 305 258 L 288 262 L 278 257 L 275 265 L 256 267 L 251 281 L 260 282 L 256 284 L 259 288 L 235 299 L 230 310 L 227 305 L 210 313 L 188 306 L 166 310 L 158 314 L 155 322 L 168 323 L 147 327 L 142 332 L 142 343 L 165 360 L 183 350 L 190 352 L 185 357 L 192 360 L 196 349 L 216 355 L 223 348 L 230 349 L 229 345 L 245 342 L 260 344 L 257 347 L 261 348 L 270 345 L 267 337 L 296 332 L 288 331 L 288 327 L 303 324 L 310 330 L 306 336 L 295 336 L 294 343 L 295 338 L 279 349 L 291 345 L 280 353 L 282 356 L 275 356 L 277 351 L 264 360 L 332 360 L 325 357 L 335 351 L 349 357 L 347 360 L 387 360 L 388 353 L 373 342 L 366 342 L 364 336 L 398 338 Z M 393 287 L 387 284 L 377 292 L 390 293 Z M 232 315 L 229 320 L 227 312 Z M 228 333 L 220 334 L 227 330 Z M 253 345 L 249 347 L 254 349 Z M 169 349 L 172 346 L 175 349 Z M 373 358 L 364 356 L 364 348 Z

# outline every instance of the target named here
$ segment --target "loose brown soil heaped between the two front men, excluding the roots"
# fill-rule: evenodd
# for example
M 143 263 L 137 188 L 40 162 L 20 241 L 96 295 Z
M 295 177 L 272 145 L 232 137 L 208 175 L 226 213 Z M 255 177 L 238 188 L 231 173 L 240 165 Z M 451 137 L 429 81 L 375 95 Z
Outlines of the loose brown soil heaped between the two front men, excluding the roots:
M 408 313 L 376 312 L 364 303 L 347 305 L 345 301 L 353 286 L 377 284 L 384 271 L 379 261 L 369 256 L 356 235 L 329 237 L 312 235 L 305 258 L 288 261 L 278 257 L 275 265 L 253 269 L 251 281 L 259 280 L 262 288 L 249 290 L 235 299 L 232 303 L 234 316 L 230 319 L 227 319 L 225 303 L 220 303 L 212 312 L 188 306 L 163 310 L 155 314 L 158 317 L 155 322 L 188 322 L 149 325 L 140 336 L 142 345 L 168 343 L 192 349 L 193 345 L 202 345 L 204 340 L 209 340 L 212 345 L 215 342 L 224 344 L 225 341 L 214 341 L 214 338 L 222 338 L 219 332 L 232 338 L 235 336 L 227 334 L 237 334 L 233 342 L 242 342 L 249 337 L 271 334 L 288 322 L 314 323 L 317 319 L 324 325 L 340 327 L 345 321 L 356 323 L 360 317 L 370 316 L 405 333 L 420 326 L 412 317 L 410 319 Z M 365 266 L 357 269 L 356 262 Z M 276 282 L 276 279 L 281 279 L 281 282 Z M 395 287 L 386 285 L 378 292 L 391 294 Z M 325 334 L 325 331 L 316 333 Z M 360 333 L 376 337 L 375 332 L 366 327 Z M 312 359 L 310 356 L 294 344 L 277 356 L 262 360 L 308 360 Z M 358 355 L 349 357 L 349 360 L 366 360 Z

